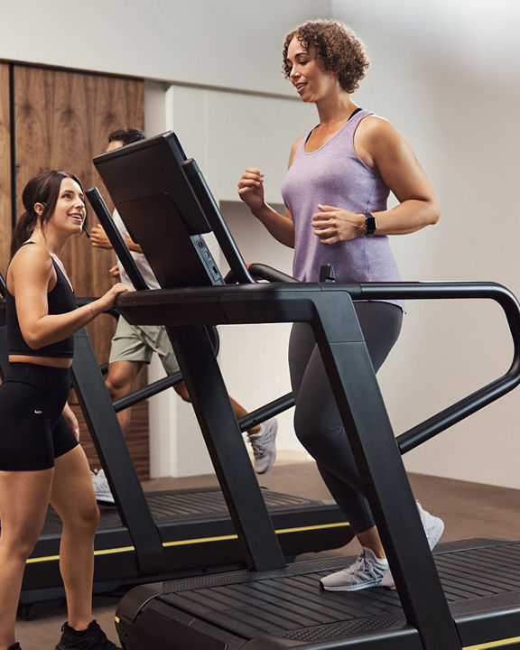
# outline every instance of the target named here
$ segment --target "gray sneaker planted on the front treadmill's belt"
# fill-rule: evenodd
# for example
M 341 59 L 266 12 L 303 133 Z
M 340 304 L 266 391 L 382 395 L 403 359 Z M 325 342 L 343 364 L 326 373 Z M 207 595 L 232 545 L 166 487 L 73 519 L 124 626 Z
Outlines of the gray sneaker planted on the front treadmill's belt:
M 347 569 L 330 573 L 325 578 L 321 578 L 321 589 L 326 591 L 359 591 L 370 587 L 378 587 L 387 569 L 387 560 L 380 560 L 376 557 L 375 552 L 364 547 L 354 564 L 350 564 Z

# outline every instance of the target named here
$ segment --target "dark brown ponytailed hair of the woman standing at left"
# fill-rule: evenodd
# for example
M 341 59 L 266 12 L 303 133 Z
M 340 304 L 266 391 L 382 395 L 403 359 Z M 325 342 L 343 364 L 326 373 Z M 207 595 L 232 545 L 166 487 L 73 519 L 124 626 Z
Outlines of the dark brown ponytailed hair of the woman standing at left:
M 71 178 L 81 187 L 79 179 L 67 172 L 57 172 L 56 170 L 47 170 L 34 176 L 31 181 L 25 185 L 22 194 L 23 207 L 25 212 L 16 222 L 11 240 L 11 257 L 32 236 L 34 228 L 40 218 L 40 227 L 42 230 L 47 221 L 52 217 L 56 203 L 60 197 L 61 181 L 65 178 Z M 34 209 L 36 203 L 42 203 L 43 210 L 40 217 Z

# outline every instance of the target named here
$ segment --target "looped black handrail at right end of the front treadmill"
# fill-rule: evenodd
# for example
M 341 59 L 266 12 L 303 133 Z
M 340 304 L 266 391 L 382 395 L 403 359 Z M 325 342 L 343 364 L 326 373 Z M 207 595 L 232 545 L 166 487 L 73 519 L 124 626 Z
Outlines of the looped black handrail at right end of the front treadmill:
M 358 299 L 405 298 L 406 300 L 487 299 L 498 302 L 506 315 L 514 355 L 506 374 L 451 404 L 432 417 L 397 436 L 404 454 L 429 441 L 453 424 L 495 402 L 520 384 L 520 304 L 515 295 L 498 283 L 360 283 Z

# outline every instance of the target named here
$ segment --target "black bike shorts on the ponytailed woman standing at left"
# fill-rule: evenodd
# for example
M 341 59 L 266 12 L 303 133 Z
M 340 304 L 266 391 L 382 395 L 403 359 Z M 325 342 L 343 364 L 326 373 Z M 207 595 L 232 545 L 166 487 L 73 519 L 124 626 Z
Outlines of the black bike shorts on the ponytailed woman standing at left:
M 70 369 L 10 363 L 0 385 L 0 470 L 51 469 L 78 444 L 62 415 Z

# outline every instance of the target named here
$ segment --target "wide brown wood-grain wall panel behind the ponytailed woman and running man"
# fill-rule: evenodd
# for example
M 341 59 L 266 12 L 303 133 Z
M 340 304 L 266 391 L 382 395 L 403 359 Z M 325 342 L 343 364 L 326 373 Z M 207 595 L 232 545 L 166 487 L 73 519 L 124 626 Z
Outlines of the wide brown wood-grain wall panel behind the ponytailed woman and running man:
M 85 190 L 97 185 L 112 208 L 92 158 L 105 151 L 107 136 L 114 129 L 144 127 L 144 81 L 15 65 L 14 125 L 18 215 L 23 212 L 25 183 L 46 169 L 76 174 Z M 89 210 L 88 228 L 94 222 Z M 69 241 L 61 259 L 78 296 L 98 296 L 114 282 L 108 276 L 114 253 L 93 248 L 84 235 Z M 110 316 L 101 316 L 88 327 L 100 364 L 107 362 L 114 329 Z M 141 478 L 148 475 L 147 415 L 146 403 L 135 406 L 126 432 Z M 91 466 L 99 467 L 83 423 L 81 436 Z

